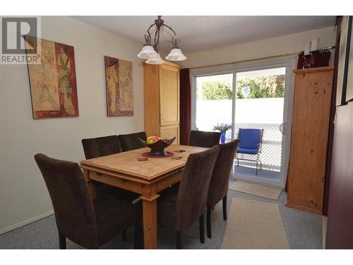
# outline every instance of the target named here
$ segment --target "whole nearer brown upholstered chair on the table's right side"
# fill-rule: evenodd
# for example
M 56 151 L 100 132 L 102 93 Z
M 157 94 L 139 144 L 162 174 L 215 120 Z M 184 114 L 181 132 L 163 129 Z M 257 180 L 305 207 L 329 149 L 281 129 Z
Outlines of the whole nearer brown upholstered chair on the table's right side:
M 181 249 L 181 232 L 199 220 L 200 241 L 205 242 L 204 213 L 208 185 L 217 159 L 219 146 L 189 155 L 179 190 L 157 199 L 157 220 L 177 231 L 177 249 Z

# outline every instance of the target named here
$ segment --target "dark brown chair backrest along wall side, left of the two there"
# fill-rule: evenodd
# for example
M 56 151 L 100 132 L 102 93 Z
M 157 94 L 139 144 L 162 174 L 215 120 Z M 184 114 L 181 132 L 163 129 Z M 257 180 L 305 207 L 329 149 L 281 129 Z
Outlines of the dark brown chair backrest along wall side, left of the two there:
M 83 139 L 81 142 L 86 159 L 99 158 L 100 156 L 112 155 L 113 153 L 121 153 L 121 147 L 117 135 Z

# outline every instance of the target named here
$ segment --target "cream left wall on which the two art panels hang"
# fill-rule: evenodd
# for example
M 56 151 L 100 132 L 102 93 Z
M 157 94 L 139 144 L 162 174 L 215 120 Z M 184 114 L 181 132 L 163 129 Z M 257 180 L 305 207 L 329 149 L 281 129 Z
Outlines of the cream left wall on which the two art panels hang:
M 75 49 L 80 117 L 32 119 L 27 66 L 0 65 L 0 233 L 52 211 L 35 153 L 79 162 L 81 139 L 143 130 L 140 43 L 66 16 L 42 17 L 42 38 Z M 107 117 L 104 55 L 133 62 L 133 117 Z

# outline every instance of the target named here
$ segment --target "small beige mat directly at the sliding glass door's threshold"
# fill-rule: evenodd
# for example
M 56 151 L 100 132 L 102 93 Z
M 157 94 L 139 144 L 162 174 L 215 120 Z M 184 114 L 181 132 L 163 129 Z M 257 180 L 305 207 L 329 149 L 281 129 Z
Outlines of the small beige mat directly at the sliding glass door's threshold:
M 241 180 L 237 180 L 234 184 L 232 184 L 229 189 L 233 189 L 237 192 L 244 192 L 247 194 L 252 194 L 255 196 L 260 196 L 266 199 L 276 200 L 280 198 L 280 194 L 282 193 L 282 189 L 276 187 L 270 187 L 261 184 L 255 184 L 251 182 L 243 182 Z

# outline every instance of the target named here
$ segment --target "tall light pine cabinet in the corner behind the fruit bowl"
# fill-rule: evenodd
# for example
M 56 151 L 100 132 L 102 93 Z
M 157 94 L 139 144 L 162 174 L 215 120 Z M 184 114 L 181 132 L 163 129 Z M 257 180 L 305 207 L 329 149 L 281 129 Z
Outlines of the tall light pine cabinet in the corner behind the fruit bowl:
M 179 66 L 143 63 L 145 131 L 179 144 Z

